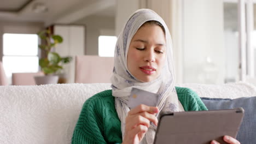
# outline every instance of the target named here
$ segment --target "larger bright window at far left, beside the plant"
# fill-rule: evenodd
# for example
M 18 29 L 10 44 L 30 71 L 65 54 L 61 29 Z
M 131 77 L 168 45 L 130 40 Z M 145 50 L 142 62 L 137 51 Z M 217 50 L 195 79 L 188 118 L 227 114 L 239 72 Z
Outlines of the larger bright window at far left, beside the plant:
M 12 73 L 36 73 L 38 71 L 37 34 L 4 33 L 3 67 L 9 81 Z

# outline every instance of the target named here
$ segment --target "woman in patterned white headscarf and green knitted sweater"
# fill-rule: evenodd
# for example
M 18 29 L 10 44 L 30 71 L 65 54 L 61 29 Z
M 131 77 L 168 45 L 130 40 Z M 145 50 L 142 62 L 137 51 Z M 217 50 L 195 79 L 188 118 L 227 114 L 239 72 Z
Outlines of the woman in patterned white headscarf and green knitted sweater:
M 72 143 L 153 143 L 159 113 L 207 110 L 195 92 L 174 87 L 172 59 L 171 35 L 164 20 L 152 10 L 137 10 L 117 40 L 112 90 L 86 100 Z M 158 93 L 159 104 L 130 110 L 132 87 Z

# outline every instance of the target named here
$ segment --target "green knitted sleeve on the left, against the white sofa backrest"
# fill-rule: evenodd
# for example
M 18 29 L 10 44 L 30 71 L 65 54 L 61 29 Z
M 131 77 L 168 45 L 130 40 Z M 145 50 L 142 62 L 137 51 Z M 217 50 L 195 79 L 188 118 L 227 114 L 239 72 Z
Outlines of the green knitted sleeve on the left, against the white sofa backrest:
M 107 143 L 103 137 L 102 103 L 97 97 L 85 101 L 75 126 L 72 144 Z

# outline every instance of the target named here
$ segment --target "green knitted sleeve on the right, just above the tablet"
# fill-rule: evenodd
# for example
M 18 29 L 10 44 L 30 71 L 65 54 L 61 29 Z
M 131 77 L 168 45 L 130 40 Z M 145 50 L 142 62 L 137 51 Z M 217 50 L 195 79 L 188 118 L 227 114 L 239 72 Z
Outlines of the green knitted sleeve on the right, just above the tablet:
M 176 87 L 178 99 L 181 101 L 185 111 L 207 111 L 207 107 L 203 104 L 201 98 L 196 92 L 189 88 Z

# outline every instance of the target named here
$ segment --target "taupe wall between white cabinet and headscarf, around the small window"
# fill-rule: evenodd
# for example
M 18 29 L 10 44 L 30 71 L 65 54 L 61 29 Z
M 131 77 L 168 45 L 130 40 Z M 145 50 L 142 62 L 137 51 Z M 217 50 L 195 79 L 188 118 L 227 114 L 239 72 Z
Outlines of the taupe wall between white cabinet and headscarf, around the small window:
M 88 16 L 75 23 L 83 24 L 86 27 L 85 54 L 98 55 L 98 37 L 102 31 L 115 30 L 115 18 L 106 16 Z M 112 33 L 114 35 L 114 33 Z

